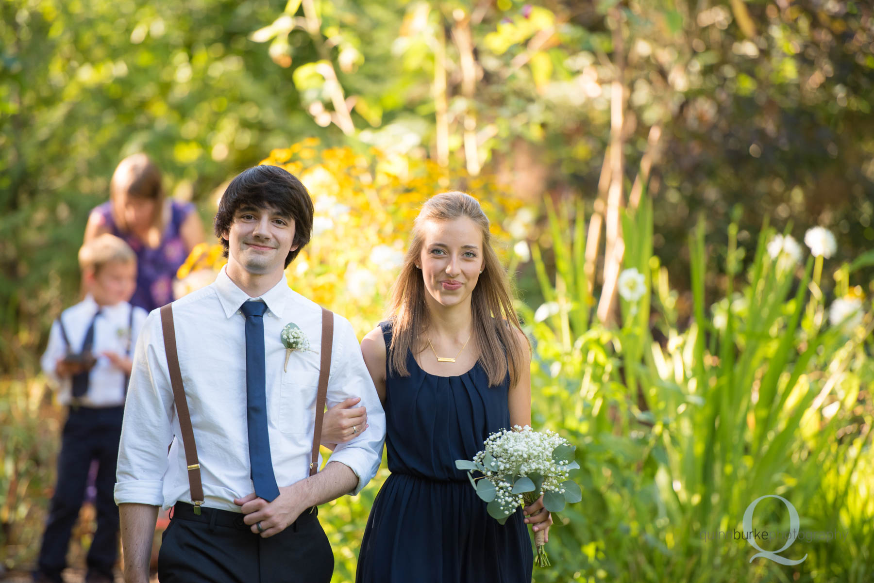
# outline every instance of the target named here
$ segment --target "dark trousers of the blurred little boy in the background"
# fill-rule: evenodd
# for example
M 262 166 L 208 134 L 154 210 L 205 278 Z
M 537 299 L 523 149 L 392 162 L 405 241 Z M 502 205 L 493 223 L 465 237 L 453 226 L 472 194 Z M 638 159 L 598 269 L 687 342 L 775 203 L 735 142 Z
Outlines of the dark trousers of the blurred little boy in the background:
M 118 508 L 115 506 L 115 465 L 121 438 L 123 407 L 70 408 L 58 457 L 58 484 L 55 485 L 43 544 L 39 549 L 41 573 L 59 580 L 66 566 L 70 532 L 85 498 L 88 469 L 97 460 L 97 531 L 88 550 L 88 571 L 112 575 L 118 556 Z

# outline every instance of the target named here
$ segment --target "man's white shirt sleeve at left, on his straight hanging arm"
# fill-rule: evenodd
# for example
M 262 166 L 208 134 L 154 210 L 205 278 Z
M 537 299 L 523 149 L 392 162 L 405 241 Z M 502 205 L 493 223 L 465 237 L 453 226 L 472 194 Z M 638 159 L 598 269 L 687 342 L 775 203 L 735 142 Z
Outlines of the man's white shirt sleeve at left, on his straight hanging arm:
M 143 323 L 136 341 L 121 426 L 115 504 L 163 505 L 173 415 L 173 391 L 156 310 Z

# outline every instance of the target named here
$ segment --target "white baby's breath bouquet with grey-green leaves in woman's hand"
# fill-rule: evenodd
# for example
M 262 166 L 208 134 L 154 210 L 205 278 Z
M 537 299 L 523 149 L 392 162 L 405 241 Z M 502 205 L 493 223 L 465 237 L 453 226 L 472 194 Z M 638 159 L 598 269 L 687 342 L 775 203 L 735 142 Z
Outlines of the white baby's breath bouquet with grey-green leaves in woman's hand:
M 518 507 L 541 496 L 550 512 L 560 512 L 565 503 L 582 499 L 579 486 L 568 479 L 570 470 L 579 468 L 573 459 L 577 448 L 557 433 L 515 425 L 491 434 L 483 445 L 473 461 L 455 460 L 455 467 L 468 470 L 476 494 L 488 503 L 489 516 L 502 525 Z M 474 477 L 474 472 L 482 476 Z M 534 534 L 537 566 L 549 566 L 544 540 L 545 532 Z

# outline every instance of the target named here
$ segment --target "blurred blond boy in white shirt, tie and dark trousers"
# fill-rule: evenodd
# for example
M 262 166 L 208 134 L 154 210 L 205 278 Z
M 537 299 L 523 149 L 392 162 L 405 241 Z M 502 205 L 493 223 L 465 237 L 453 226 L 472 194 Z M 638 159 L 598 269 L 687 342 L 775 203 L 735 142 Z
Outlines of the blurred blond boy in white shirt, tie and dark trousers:
M 88 469 L 96 460 L 97 531 L 88 551 L 86 581 L 111 583 L 118 552 L 113 489 L 121 415 L 130 349 L 147 314 L 128 304 L 136 285 L 136 256 L 128 243 L 101 235 L 80 249 L 79 264 L 87 296 L 54 322 L 41 360 L 69 411 L 34 580 L 61 583 L 70 532 L 85 497 Z

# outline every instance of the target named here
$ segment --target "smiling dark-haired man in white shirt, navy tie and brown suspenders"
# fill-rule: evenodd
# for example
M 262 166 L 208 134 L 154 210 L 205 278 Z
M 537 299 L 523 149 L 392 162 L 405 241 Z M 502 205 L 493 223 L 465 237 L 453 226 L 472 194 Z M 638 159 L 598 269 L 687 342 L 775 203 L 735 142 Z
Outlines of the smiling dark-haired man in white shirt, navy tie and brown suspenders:
M 115 485 L 128 583 L 148 580 L 156 513 L 171 505 L 158 558 L 163 583 L 330 580 L 333 555 L 315 507 L 357 494 L 376 474 L 385 414 L 355 333 L 335 316 L 327 402 L 360 397 L 371 427 L 337 445 L 326 467 L 309 476 L 322 311 L 288 287 L 285 268 L 309 243 L 312 222 L 313 203 L 295 176 L 273 166 L 247 169 L 225 190 L 215 219 L 227 265 L 214 284 L 172 304 L 202 506 L 191 505 L 191 463 L 180 442 L 159 312 L 143 326 Z M 286 364 L 281 333 L 290 323 L 311 350 L 291 353 Z M 252 352 L 256 335 L 263 362 Z M 253 401 L 259 398 L 266 415 Z

